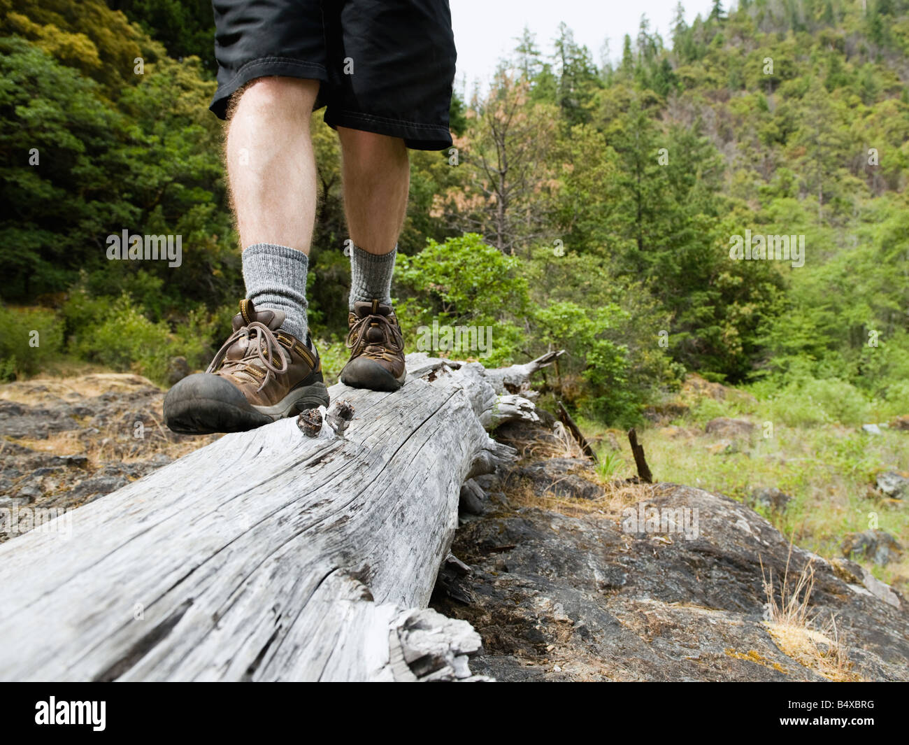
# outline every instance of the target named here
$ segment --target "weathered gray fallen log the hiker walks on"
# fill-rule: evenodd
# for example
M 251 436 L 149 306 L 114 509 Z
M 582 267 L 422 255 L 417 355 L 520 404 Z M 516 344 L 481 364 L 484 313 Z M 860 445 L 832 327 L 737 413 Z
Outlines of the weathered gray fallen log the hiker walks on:
M 464 479 L 510 448 L 483 367 L 427 359 L 395 393 L 332 388 L 343 437 L 227 435 L 74 510 L 68 539 L 5 542 L 0 679 L 474 680 L 473 629 L 415 609 Z

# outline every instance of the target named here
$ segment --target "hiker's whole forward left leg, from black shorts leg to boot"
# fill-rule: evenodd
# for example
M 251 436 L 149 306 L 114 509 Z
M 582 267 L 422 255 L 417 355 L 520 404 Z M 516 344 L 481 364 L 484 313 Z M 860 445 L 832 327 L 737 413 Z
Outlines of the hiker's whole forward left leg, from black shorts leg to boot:
M 316 194 L 309 122 L 328 87 L 325 24 L 341 5 L 213 0 L 218 87 L 209 108 L 229 119 L 225 166 L 246 297 L 208 370 L 167 392 L 175 432 L 245 431 L 328 406 L 306 324 Z

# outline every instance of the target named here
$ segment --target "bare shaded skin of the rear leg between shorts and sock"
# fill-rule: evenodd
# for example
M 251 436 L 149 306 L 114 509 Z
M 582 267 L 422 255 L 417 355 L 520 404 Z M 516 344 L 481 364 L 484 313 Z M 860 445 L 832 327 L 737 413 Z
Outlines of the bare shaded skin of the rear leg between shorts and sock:
M 370 254 L 395 248 L 407 210 L 410 161 L 404 140 L 338 127 L 347 228 Z

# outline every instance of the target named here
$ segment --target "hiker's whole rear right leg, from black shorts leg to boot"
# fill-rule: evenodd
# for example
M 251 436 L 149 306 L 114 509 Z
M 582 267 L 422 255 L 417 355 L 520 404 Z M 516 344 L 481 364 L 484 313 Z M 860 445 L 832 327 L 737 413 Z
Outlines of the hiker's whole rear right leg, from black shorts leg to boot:
M 345 212 L 355 244 L 347 317 L 351 357 L 340 377 L 354 388 L 391 391 L 406 378 L 405 345 L 390 296 L 407 206 L 407 148 L 452 146 L 451 12 L 448 0 L 349 0 L 339 21 L 327 36 L 332 96 L 325 123 L 341 137 Z

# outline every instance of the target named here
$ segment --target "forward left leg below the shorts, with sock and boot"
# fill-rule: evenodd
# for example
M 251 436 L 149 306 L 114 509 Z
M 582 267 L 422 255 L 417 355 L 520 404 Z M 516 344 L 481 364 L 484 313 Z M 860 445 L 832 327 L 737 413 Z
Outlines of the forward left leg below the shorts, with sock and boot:
M 208 370 L 167 392 L 165 421 L 175 432 L 245 431 L 328 406 L 306 328 L 315 221 L 309 118 L 318 89 L 315 80 L 256 78 L 228 107 L 225 156 L 246 299 Z

